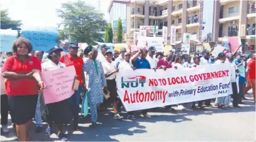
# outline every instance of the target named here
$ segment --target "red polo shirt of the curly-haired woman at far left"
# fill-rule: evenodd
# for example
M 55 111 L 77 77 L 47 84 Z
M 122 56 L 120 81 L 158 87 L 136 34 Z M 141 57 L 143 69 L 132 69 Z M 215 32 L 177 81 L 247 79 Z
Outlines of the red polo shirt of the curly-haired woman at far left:
M 27 74 L 33 69 L 41 70 L 41 62 L 36 57 L 29 56 L 26 62 L 18 59 L 17 55 L 9 57 L 2 67 L 2 72 Z M 36 79 L 6 80 L 6 94 L 10 96 L 36 95 L 39 86 Z

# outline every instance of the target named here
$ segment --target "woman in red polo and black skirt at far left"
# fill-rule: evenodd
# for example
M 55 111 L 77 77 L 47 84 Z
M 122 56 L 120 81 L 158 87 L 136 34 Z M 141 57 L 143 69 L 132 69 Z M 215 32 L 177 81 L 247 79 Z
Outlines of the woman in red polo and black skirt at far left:
M 24 37 L 16 39 L 12 49 L 14 55 L 4 63 L 2 73 L 7 78 L 6 94 L 19 141 L 29 141 L 29 126 L 36 111 L 39 89 L 45 88 L 40 75 L 41 63 L 28 55 L 32 45 Z

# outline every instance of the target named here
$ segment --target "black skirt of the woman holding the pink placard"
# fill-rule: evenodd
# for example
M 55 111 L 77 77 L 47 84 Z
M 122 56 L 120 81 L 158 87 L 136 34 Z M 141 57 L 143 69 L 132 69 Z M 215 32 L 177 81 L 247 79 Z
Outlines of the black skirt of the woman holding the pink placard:
M 48 110 L 48 120 L 54 121 L 56 125 L 69 123 L 72 118 L 71 108 L 68 99 L 61 102 L 46 104 Z

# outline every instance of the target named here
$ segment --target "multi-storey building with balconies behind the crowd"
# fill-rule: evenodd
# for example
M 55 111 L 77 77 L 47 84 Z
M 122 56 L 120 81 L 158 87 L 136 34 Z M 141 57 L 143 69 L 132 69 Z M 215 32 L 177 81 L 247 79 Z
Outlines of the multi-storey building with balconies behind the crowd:
M 133 44 L 133 32 L 140 26 L 176 27 L 176 42 L 190 33 L 199 42 L 210 37 L 217 42 L 223 37 L 255 38 L 255 0 L 113 0 L 126 4 L 126 43 Z M 239 30 L 240 29 L 240 30 Z M 170 40 L 168 40 L 170 44 Z

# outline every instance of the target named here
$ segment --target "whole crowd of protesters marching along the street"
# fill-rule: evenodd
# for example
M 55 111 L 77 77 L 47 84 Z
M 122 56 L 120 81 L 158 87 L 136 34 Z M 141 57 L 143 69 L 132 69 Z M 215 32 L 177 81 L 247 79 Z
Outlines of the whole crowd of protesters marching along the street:
M 61 47 L 53 47 L 47 53 L 33 51 L 29 40 L 19 37 L 14 41 L 13 52 L 8 52 L 8 59 L 1 60 L 1 125 L 4 133 L 8 130 L 8 111 L 19 141 L 29 141 L 29 126 L 33 118 L 36 121 L 36 132 L 43 130 L 41 119 L 41 102 L 44 100 L 42 90 L 46 87 L 41 79 L 40 72 L 61 69 L 73 65 L 76 70 L 76 78 L 79 80 L 78 90 L 61 102 L 46 105 L 47 114 L 45 134 L 54 133 L 53 124 L 58 127 L 58 138 L 62 141 L 68 140 L 63 133 L 63 125 L 73 123 L 74 131 L 79 130 L 79 103 L 83 100 L 85 92 L 88 95 L 88 104 L 91 113 L 91 128 L 96 127 L 98 111 L 105 111 L 113 106 L 115 119 L 123 119 L 120 108 L 122 106 L 118 93 L 116 92 L 116 73 L 119 70 L 137 69 L 185 69 L 197 68 L 207 64 L 227 64 L 232 68 L 231 80 L 233 94 L 227 97 L 215 99 L 215 106 L 227 109 L 233 98 L 233 107 L 239 107 L 246 100 L 245 94 L 252 88 L 255 102 L 255 54 L 247 60 L 237 50 L 230 53 L 220 52 L 217 57 L 212 57 L 211 51 L 203 50 L 202 54 L 177 55 L 168 52 L 163 55 L 157 52 L 155 47 L 148 49 L 120 49 L 120 52 L 111 52 L 107 45 L 95 48 L 91 45 L 78 55 L 77 44 L 69 44 L 65 40 Z M 98 52 L 100 49 L 100 52 Z M 61 52 L 66 54 L 61 55 Z M 238 78 L 238 88 L 236 78 Z M 110 92 L 110 98 L 105 99 L 103 92 Z M 54 94 L 49 94 L 54 95 Z M 205 110 L 212 106 L 212 99 L 192 102 L 192 108 Z M 198 105 L 196 105 L 198 104 Z M 175 112 L 175 105 L 165 106 L 166 111 Z M 183 110 L 182 104 L 177 104 L 178 109 Z M 148 109 L 141 110 L 141 116 L 151 118 Z M 135 119 L 135 112 L 129 111 L 127 119 Z M 71 121 L 73 120 L 73 121 Z

